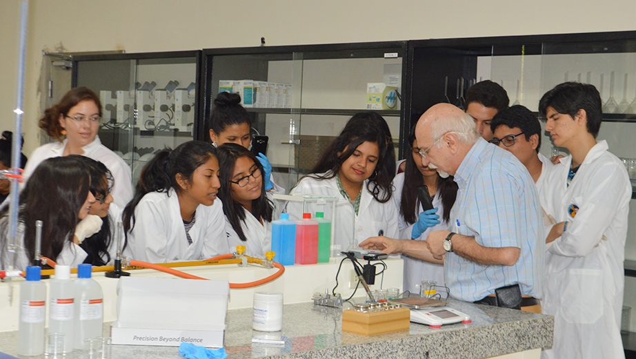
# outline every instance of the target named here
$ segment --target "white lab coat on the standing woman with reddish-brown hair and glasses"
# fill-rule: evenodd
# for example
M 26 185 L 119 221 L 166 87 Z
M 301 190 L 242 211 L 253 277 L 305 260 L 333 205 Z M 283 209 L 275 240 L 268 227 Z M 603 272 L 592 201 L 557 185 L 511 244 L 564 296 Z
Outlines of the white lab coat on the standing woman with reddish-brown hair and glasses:
M 66 148 L 67 139 L 63 142 L 52 142 L 36 148 L 30 155 L 26 167 L 24 168 L 24 183 L 28 177 L 31 177 L 33 171 L 45 159 L 52 157 L 61 157 Z M 83 146 L 86 157 L 95 159 L 103 163 L 112 173 L 115 183 L 112 186 L 112 198 L 114 202 L 121 208 L 125 207 L 132 200 L 132 174 L 130 166 L 121 159 L 116 153 L 110 151 L 106 146 L 101 144 L 99 136 L 95 136 L 95 140 L 90 144 Z M 24 185 L 21 186 L 23 188 Z

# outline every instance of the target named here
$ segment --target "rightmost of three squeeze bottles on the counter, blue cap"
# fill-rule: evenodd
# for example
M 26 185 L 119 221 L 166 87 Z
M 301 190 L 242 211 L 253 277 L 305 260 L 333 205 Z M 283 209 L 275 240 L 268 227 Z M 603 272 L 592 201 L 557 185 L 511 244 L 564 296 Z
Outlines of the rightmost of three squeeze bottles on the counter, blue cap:
M 84 339 L 101 337 L 103 331 L 103 293 L 90 278 L 92 266 L 79 264 L 75 280 L 74 348 L 84 349 Z

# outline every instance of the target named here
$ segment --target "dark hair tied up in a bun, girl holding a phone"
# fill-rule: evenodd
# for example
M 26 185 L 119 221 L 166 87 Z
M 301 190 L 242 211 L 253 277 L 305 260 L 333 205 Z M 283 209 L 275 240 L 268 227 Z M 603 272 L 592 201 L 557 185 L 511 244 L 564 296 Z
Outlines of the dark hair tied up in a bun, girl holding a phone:
M 252 127 L 252 121 L 247 110 L 241 106 L 241 96 L 236 93 L 223 92 L 217 95 L 214 108 L 208 119 L 208 128 L 219 135 L 227 126 L 235 124 L 248 124 Z

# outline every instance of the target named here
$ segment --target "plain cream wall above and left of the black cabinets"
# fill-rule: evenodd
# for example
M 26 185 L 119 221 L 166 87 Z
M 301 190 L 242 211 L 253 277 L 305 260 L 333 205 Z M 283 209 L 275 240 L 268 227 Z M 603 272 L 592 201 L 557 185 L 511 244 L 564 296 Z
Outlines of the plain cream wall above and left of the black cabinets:
M 0 129 L 12 128 L 19 1 L 0 1 Z M 390 4 L 390 5 L 388 5 Z M 635 30 L 636 2 L 30 0 L 25 152 L 39 143 L 42 50 L 150 52 L 267 44 Z

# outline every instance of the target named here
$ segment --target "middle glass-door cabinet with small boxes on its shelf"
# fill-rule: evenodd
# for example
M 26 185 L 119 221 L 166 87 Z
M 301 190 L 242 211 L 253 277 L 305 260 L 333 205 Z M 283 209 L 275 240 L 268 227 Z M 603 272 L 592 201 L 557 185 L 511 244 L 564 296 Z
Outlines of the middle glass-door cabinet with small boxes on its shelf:
M 275 182 L 287 190 L 361 111 L 386 119 L 399 156 L 406 52 L 406 41 L 206 49 L 200 119 L 219 92 L 239 93 L 253 134 L 268 136 Z M 197 138 L 208 139 L 210 128 L 198 128 Z

